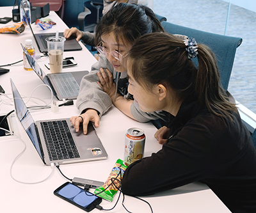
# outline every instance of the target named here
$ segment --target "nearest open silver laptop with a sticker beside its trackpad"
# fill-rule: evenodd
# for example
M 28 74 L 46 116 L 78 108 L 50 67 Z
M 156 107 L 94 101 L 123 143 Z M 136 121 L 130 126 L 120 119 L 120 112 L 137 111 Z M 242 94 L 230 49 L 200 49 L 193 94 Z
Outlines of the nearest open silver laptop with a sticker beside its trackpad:
M 108 158 L 92 123 L 84 135 L 83 130 L 75 131 L 69 118 L 34 122 L 12 79 L 10 81 L 15 113 L 44 164 L 49 166 L 52 162 L 65 164 Z

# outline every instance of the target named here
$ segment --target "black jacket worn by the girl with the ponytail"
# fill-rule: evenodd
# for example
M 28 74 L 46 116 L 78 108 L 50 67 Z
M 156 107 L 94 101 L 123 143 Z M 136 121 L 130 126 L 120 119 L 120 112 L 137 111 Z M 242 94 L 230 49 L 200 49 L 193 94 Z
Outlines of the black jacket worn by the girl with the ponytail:
M 154 194 L 201 181 L 232 212 L 256 212 L 256 150 L 239 114 L 232 122 L 185 100 L 169 128 L 172 138 L 159 152 L 127 168 L 125 194 Z

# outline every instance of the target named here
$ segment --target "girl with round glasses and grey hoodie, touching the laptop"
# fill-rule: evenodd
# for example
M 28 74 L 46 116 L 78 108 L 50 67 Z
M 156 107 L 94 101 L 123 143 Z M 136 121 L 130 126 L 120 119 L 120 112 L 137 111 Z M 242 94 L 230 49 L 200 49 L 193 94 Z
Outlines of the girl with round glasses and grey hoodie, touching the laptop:
M 70 118 L 76 131 L 79 123 L 83 123 L 86 134 L 90 121 L 99 127 L 100 116 L 112 103 L 139 122 L 166 118 L 163 112 L 142 112 L 127 91 L 126 54 L 137 38 L 157 31 L 164 31 L 161 23 L 154 12 L 143 5 L 120 3 L 100 19 L 95 35 L 99 61 L 81 81 L 76 102 L 81 114 Z

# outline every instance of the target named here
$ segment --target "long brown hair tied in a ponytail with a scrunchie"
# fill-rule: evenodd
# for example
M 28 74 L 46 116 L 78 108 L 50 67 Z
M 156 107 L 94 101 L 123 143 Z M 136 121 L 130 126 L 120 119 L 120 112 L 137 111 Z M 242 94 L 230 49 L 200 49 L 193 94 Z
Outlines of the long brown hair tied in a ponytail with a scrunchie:
M 196 39 L 196 38 L 195 38 Z M 183 99 L 191 97 L 209 111 L 232 119 L 235 104 L 221 86 L 216 57 L 209 47 L 198 44 L 198 68 L 188 58 L 184 40 L 169 33 L 141 36 L 129 51 L 134 80 L 150 89 L 154 84 L 170 86 Z

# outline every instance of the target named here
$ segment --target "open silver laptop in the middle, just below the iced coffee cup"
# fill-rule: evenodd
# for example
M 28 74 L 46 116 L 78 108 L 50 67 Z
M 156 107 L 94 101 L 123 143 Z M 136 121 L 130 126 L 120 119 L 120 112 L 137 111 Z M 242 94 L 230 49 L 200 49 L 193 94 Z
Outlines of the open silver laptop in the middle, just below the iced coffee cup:
M 79 85 L 84 75 L 88 71 L 77 72 L 61 72 L 58 74 L 45 74 L 44 70 L 40 68 L 35 59 L 29 54 L 25 47 L 21 44 L 22 49 L 28 59 L 30 67 L 34 70 L 40 79 L 51 87 L 52 93 L 58 100 L 76 99 L 79 93 Z

